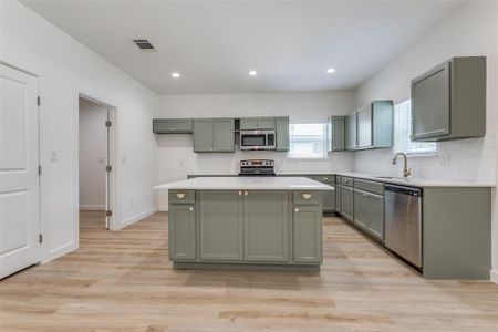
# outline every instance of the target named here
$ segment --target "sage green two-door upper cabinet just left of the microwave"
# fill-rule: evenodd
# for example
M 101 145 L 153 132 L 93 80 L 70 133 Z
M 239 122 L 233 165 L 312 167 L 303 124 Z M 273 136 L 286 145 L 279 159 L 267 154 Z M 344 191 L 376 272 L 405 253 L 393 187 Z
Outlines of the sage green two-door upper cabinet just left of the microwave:
M 234 118 L 196 118 L 194 120 L 194 151 L 234 152 Z

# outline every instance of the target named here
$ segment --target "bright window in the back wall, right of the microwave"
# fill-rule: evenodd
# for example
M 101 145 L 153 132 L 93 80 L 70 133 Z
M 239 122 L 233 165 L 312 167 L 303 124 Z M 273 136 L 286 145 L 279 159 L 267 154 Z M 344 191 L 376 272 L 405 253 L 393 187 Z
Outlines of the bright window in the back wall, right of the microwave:
M 326 124 L 294 123 L 289 126 L 290 158 L 326 158 Z

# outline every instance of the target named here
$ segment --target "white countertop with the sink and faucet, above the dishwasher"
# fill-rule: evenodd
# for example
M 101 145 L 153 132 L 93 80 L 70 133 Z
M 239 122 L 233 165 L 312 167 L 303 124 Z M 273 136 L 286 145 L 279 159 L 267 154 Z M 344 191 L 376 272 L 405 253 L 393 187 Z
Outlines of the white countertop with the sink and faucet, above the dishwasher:
M 495 187 L 496 184 L 492 183 L 478 183 L 478 181 L 446 181 L 446 180 L 434 180 L 434 179 L 421 179 L 421 178 L 411 178 L 407 179 L 403 177 L 390 177 L 382 175 L 372 175 L 372 174 L 363 174 L 363 173 L 335 173 L 340 176 L 347 176 L 354 178 L 363 178 L 374 181 L 381 181 L 393 185 L 404 185 L 404 186 L 414 186 L 421 188 L 427 187 Z

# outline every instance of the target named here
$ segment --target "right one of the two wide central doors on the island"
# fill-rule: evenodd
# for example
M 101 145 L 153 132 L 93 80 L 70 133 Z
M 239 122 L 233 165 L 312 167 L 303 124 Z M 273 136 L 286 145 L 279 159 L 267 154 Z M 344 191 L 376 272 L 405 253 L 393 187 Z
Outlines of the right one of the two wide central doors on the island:
M 289 260 L 289 197 L 288 191 L 245 191 L 245 260 Z

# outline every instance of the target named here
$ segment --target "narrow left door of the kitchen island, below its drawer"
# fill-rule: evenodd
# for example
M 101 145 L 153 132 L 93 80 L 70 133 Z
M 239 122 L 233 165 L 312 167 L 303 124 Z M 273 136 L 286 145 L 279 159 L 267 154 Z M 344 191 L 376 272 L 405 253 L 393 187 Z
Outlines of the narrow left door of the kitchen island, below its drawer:
M 196 259 L 196 209 L 189 204 L 169 205 L 169 258 Z

